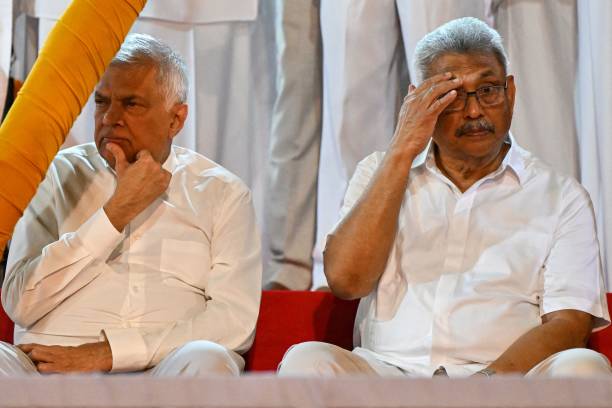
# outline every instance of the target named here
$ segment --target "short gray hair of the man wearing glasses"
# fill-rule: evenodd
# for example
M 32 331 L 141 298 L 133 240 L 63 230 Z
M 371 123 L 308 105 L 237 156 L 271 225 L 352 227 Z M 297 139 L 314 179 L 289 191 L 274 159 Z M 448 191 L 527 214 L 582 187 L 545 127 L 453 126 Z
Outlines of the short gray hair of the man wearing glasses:
M 458 18 L 441 25 L 418 42 L 414 66 L 418 81 L 429 76 L 434 60 L 444 54 L 493 54 L 508 72 L 508 57 L 497 31 L 474 17 Z

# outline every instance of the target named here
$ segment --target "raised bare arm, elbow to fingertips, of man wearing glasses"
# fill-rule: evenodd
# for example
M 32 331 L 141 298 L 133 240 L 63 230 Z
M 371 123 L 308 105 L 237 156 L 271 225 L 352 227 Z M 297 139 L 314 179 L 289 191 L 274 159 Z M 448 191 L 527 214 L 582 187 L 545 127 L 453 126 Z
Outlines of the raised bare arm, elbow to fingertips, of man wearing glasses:
M 431 139 L 438 116 L 453 101 L 460 79 L 434 75 L 410 85 L 385 159 L 351 212 L 328 238 L 323 261 L 332 291 L 359 298 L 384 271 L 397 232 L 410 167 Z

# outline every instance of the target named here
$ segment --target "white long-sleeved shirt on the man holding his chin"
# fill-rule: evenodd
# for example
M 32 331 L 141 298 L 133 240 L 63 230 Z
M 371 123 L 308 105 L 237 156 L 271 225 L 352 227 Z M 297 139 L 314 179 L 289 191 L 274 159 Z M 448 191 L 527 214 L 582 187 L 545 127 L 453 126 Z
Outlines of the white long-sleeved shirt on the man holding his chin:
M 113 371 L 157 364 L 190 340 L 237 352 L 254 335 L 261 248 L 248 188 L 173 146 L 166 192 L 117 232 L 116 176 L 85 144 L 60 152 L 15 228 L 2 303 L 15 343 L 106 338 Z

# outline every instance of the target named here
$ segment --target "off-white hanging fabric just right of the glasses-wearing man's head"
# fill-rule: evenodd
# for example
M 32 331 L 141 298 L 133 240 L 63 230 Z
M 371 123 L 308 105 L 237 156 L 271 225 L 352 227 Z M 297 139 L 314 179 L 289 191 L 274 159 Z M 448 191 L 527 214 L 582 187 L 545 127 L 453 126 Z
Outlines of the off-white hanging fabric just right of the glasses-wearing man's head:
M 512 134 L 555 169 L 578 178 L 576 1 L 502 1 L 493 14 L 517 88 Z

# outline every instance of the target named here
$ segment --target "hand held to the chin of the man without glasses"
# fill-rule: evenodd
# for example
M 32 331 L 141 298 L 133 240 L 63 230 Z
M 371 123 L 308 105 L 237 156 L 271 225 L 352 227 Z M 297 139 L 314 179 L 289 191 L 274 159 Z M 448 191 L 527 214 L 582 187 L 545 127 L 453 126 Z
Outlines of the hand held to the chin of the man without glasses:
M 147 150 L 139 151 L 136 161 L 128 163 L 121 147 L 108 143 L 106 148 L 115 158 L 117 187 L 104 211 L 117 231 L 123 231 L 134 217 L 166 191 L 172 175 Z

